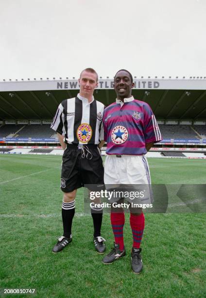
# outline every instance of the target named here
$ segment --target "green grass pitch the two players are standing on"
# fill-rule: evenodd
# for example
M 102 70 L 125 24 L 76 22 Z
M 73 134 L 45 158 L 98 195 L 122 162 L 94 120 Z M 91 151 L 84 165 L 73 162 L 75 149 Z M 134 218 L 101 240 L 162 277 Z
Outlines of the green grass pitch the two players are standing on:
M 149 159 L 149 165 L 154 184 L 205 183 L 206 160 Z M 1 296 L 5 288 L 35 288 L 40 298 L 206 297 L 206 213 L 146 213 L 144 269 L 137 276 L 130 268 L 129 215 L 126 257 L 103 265 L 103 255 L 94 251 L 92 219 L 83 213 L 79 189 L 73 242 L 52 254 L 62 235 L 60 167 L 60 156 L 0 155 Z M 169 204 L 176 204 L 175 196 Z M 103 216 L 102 235 L 108 253 L 113 244 L 109 214 Z

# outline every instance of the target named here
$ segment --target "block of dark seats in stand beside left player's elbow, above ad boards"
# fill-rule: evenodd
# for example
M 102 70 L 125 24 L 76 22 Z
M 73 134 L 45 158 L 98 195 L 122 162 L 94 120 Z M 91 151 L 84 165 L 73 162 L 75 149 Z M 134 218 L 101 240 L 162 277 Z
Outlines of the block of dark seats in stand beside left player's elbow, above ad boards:
M 26 125 L 22 130 L 20 130 L 16 137 L 19 138 L 50 138 L 53 134 L 50 125 L 47 124 L 34 124 Z

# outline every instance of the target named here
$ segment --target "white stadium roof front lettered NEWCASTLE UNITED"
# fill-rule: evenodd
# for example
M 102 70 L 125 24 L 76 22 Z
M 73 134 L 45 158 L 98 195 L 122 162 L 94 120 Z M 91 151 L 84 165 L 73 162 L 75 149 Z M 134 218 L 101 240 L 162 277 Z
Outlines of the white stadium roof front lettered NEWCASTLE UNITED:
M 160 90 L 206 90 L 206 77 L 190 78 L 137 78 L 134 77 L 134 89 L 160 89 Z M 53 79 L 21 79 L 3 80 L 0 82 L 0 92 L 2 91 L 37 91 L 37 90 L 78 90 L 78 79 L 53 78 Z M 98 90 L 113 89 L 113 78 L 99 78 Z

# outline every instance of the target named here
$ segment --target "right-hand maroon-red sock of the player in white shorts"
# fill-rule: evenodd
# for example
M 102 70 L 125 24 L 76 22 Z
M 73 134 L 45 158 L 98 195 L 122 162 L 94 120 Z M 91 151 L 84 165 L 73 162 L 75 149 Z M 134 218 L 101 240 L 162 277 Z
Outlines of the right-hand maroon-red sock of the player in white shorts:
M 130 226 L 133 235 L 133 247 L 139 248 L 144 232 L 144 213 L 140 215 L 130 214 Z

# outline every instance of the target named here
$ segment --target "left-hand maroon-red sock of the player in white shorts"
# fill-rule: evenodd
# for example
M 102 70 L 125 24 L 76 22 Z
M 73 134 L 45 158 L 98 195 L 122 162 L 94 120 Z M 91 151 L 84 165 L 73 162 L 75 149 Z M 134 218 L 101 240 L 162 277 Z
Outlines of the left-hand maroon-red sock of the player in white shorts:
M 112 213 L 110 214 L 112 229 L 115 237 L 115 243 L 120 245 L 120 250 L 124 249 L 123 239 L 123 226 L 124 226 L 124 213 Z

